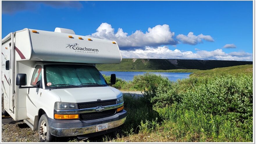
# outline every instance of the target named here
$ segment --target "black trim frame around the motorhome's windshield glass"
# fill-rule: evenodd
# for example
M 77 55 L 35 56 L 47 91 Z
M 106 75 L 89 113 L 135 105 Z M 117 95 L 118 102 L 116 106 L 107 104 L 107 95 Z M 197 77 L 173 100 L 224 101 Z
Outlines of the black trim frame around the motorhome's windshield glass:
M 50 89 L 49 86 L 47 86 L 47 81 L 46 81 L 46 68 L 48 66 L 74 66 L 74 64 L 46 64 L 44 65 L 44 81 L 45 81 L 45 89 Z M 95 66 L 91 66 L 91 65 L 75 65 L 75 66 L 83 66 L 83 67 L 93 67 L 95 68 L 98 72 L 99 70 L 95 67 Z M 99 74 L 102 76 L 102 74 L 99 72 Z M 103 77 L 104 79 L 104 77 Z M 106 80 L 104 79 L 106 86 L 109 86 L 108 83 L 106 82 Z M 77 86 L 81 86 L 82 88 L 86 88 L 86 87 L 103 87 L 103 86 L 99 86 L 99 85 L 95 85 L 95 84 L 91 84 L 91 85 L 77 85 Z M 77 86 L 51 86 L 51 89 L 62 89 L 62 88 L 79 88 Z

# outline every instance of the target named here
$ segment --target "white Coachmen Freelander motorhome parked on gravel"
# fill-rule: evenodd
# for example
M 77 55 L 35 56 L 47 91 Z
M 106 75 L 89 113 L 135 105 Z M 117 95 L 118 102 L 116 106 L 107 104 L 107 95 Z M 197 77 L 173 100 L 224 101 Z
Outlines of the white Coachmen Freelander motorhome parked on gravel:
M 23 29 L 2 39 L 1 55 L 4 113 L 38 130 L 41 142 L 97 136 L 125 122 L 122 93 L 109 86 L 115 74 L 107 83 L 95 68 L 121 62 L 115 41 Z

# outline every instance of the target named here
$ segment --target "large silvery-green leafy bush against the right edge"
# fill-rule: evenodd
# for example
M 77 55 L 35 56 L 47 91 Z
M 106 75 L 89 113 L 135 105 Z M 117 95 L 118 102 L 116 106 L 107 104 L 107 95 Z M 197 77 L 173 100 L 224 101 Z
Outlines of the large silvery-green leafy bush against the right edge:
M 226 114 L 228 118 L 243 120 L 253 115 L 253 77 L 204 77 L 200 85 L 188 88 L 182 94 L 185 109 L 201 110 L 214 115 Z

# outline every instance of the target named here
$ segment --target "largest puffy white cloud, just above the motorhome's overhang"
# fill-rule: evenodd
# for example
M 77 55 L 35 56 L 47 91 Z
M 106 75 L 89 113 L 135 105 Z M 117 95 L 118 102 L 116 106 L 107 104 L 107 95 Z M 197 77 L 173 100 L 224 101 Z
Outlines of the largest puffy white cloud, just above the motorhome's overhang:
M 147 32 L 136 30 L 131 35 L 124 32 L 119 28 L 115 33 L 115 29 L 108 23 L 102 23 L 95 33 L 87 35 L 94 38 L 101 38 L 107 40 L 115 40 L 118 42 L 119 47 L 132 48 L 132 47 L 145 47 L 145 46 L 160 46 L 160 45 L 176 45 L 177 41 L 174 40 L 174 32 L 170 31 L 167 24 L 157 25 L 153 28 L 148 28 Z

